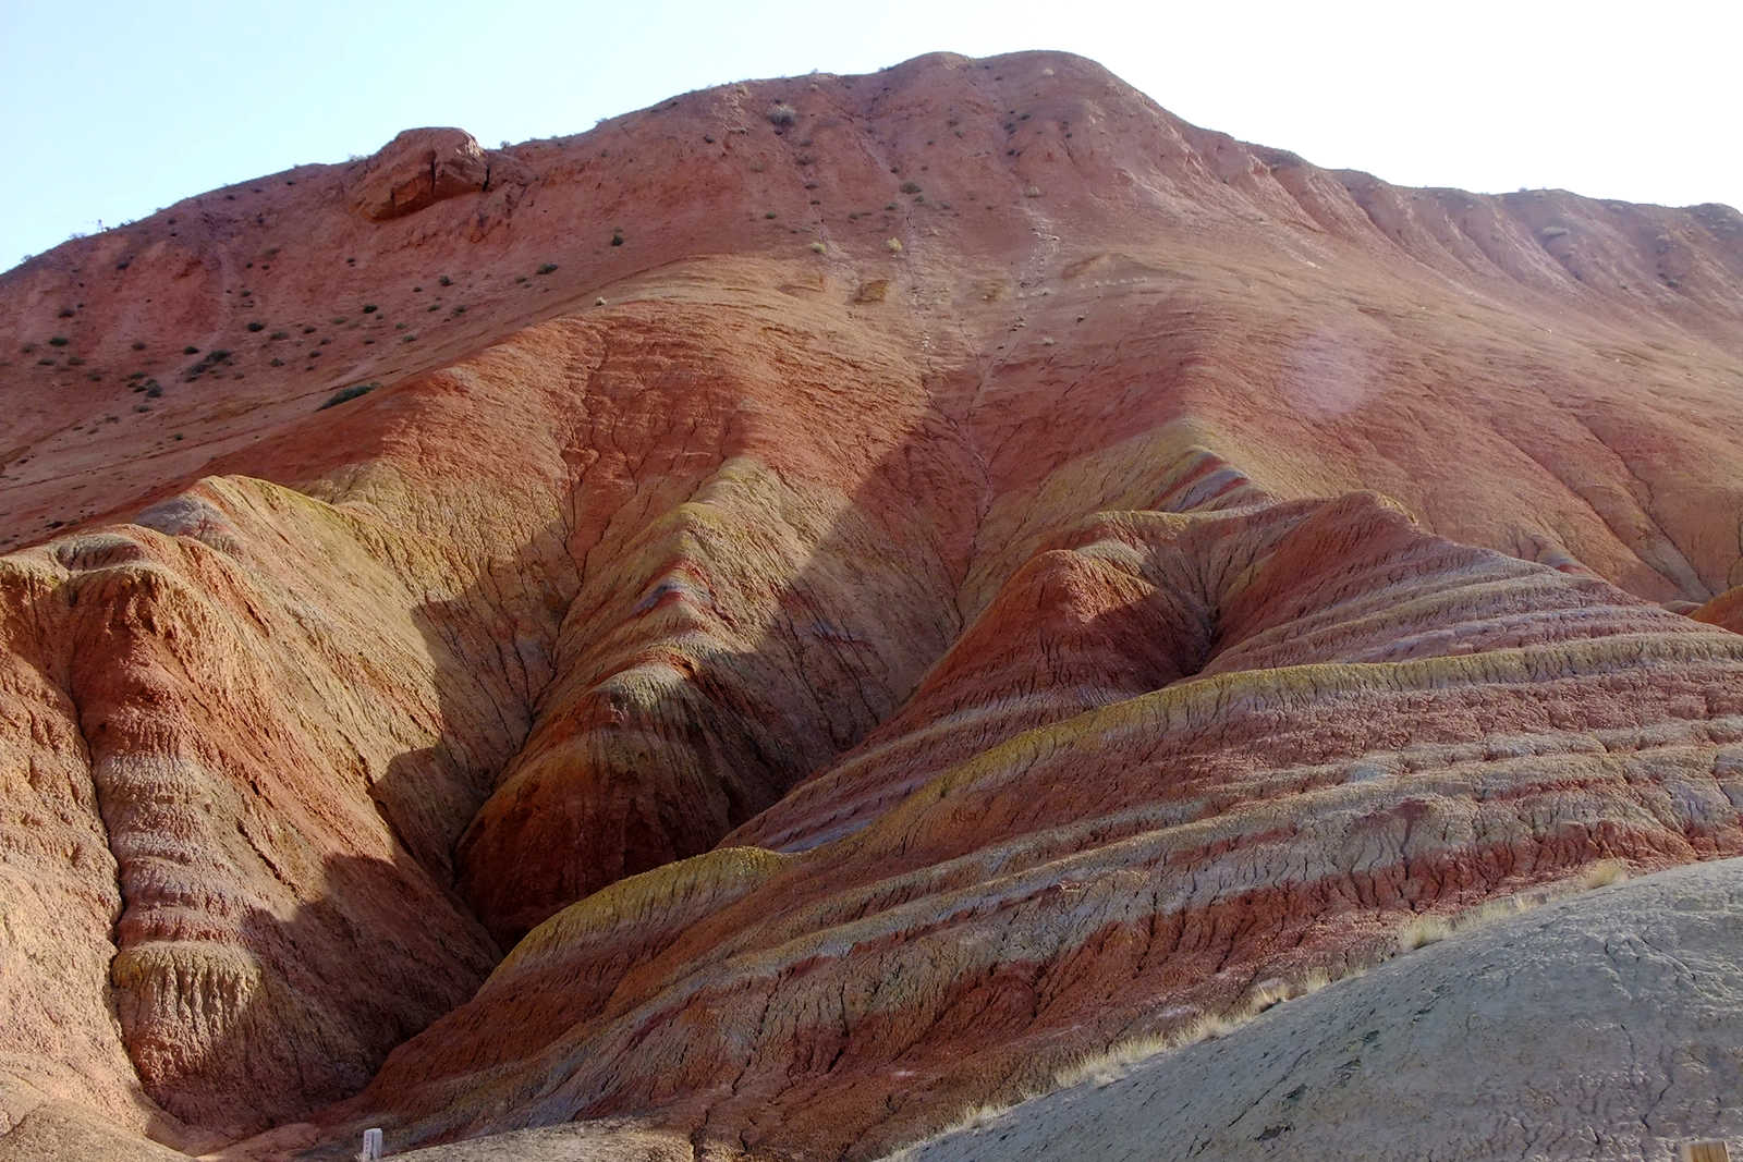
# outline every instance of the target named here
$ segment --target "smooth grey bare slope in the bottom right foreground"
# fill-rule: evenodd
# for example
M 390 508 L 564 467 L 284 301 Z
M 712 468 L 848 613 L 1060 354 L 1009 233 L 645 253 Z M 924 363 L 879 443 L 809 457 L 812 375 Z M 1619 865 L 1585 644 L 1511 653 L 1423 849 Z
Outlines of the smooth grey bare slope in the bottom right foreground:
M 1668 1160 L 1701 1138 L 1743 1141 L 1736 859 L 1457 932 L 899 1157 Z

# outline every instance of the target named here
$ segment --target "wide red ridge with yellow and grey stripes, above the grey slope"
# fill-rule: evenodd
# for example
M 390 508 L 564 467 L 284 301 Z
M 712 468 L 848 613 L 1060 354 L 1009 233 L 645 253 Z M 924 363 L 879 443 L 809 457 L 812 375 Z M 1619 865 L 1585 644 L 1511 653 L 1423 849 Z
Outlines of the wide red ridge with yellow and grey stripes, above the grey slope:
M 729 840 L 791 852 L 741 899 L 608 965 L 591 909 L 708 895 L 713 866 L 575 904 L 530 937 L 539 990 L 505 967 L 331 1115 L 417 1141 L 657 1110 L 720 1157 L 877 1157 L 1072 1054 L 1365 967 L 1419 915 L 1743 852 L 1734 634 L 1365 495 L 1060 540 Z M 509 998 L 570 990 L 504 1061 Z

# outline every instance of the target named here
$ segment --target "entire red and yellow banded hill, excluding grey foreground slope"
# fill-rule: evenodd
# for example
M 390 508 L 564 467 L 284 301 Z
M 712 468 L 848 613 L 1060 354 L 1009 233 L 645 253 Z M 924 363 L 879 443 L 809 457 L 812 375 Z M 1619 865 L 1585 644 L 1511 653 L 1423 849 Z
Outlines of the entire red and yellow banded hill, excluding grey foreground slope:
M 0 1157 L 878 1157 L 1743 854 L 1722 206 L 929 56 L 411 131 L 0 303 Z

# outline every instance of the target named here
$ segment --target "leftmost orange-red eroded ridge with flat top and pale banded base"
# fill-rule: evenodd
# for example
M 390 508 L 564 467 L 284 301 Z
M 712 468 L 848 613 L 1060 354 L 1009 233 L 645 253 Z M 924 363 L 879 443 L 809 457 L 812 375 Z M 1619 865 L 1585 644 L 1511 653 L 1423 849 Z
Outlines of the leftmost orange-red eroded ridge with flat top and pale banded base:
M 453 610 L 415 587 L 451 578 L 439 545 L 246 479 L 141 521 L 174 535 L 119 526 L 9 563 L 19 646 L 54 683 L 40 706 L 64 716 L 59 746 L 31 728 L 37 782 L 51 754 L 87 763 L 42 834 L 84 831 L 101 854 L 66 847 L 66 866 L 94 859 L 108 894 L 84 890 L 110 897 L 82 925 L 106 988 L 44 1016 L 115 1038 L 66 1056 L 84 1077 L 235 1136 L 361 1085 L 493 963 L 446 850 L 526 711 L 505 718 L 514 676 L 479 664 L 493 643 L 465 657 Z M 9 895 L 44 897 L 21 932 L 80 930 L 51 887 Z M 30 967 L 17 979 L 56 979 Z

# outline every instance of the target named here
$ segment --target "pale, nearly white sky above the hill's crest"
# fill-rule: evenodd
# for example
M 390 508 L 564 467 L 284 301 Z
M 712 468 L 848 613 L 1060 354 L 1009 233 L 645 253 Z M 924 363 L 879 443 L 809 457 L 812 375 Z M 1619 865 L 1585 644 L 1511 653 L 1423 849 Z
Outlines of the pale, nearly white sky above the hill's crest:
M 0 0 L 0 268 L 410 125 L 486 145 L 729 80 L 1067 49 L 1403 185 L 1743 206 L 1743 0 Z

